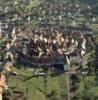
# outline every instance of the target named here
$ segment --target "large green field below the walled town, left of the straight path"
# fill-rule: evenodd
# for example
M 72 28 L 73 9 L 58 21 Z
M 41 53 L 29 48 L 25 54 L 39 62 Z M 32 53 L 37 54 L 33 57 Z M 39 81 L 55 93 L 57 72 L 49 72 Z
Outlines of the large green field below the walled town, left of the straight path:
M 17 97 L 14 91 L 23 92 L 24 96 L 17 100 L 22 100 L 25 96 L 28 100 L 61 100 L 61 98 L 67 97 L 65 74 L 57 77 L 52 77 L 49 74 L 46 77 L 33 77 L 32 70 L 31 68 L 12 68 L 12 72 L 16 72 L 18 75 L 11 75 L 8 78 L 10 99 L 13 100 Z

